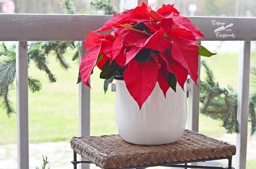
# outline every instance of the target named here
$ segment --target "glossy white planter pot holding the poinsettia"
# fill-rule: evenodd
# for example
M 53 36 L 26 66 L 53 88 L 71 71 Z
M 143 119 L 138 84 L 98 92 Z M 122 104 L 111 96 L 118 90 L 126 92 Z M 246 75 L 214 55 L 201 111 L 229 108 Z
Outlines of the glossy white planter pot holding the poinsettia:
M 186 85 L 184 90 L 186 91 Z M 161 145 L 176 142 L 184 133 L 187 120 L 186 92 L 177 85 L 166 98 L 158 83 L 139 111 L 122 80 L 116 81 L 115 118 L 120 136 L 133 144 Z

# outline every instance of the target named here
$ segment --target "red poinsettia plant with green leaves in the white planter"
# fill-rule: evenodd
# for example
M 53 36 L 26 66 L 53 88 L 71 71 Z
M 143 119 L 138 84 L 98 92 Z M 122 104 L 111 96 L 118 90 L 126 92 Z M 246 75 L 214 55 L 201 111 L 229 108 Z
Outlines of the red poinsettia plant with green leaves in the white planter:
M 194 24 L 173 7 L 163 5 L 153 11 L 146 4 L 122 13 L 86 38 L 89 49 L 80 65 L 82 82 L 90 87 L 89 77 L 95 65 L 105 79 L 104 90 L 113 79 L 124 80 L 139 107 L 158 82 L 164 96 L 176 83 L 182 87 L 190 75 L 197 84 L 198 55 L 213 55 L 198 46 L 197 37 L 205 38 Z M 111 35 L 97 32 L 113 30 Z

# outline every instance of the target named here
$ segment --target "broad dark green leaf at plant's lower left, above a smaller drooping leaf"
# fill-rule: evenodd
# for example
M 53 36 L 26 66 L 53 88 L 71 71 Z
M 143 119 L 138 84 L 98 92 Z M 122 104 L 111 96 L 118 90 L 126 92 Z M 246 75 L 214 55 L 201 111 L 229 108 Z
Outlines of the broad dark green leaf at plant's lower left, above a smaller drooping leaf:
M 109 59 L 107 60 L 106 64 L 103 65 L 103 70 L 100 72 L 100 78 L 102 79 L 109 79 L 114 76 L 117 71 L 121 69 L 121 67 L 117 64 L 115 60 L 112 61 L 111 65 Z

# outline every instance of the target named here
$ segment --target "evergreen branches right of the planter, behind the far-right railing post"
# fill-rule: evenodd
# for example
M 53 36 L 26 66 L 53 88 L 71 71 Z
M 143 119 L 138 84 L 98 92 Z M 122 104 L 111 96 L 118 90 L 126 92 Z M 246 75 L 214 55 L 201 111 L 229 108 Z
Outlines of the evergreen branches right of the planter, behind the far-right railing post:
M 237 133 L 237 93 L 230 86 L 219 87 L 215 82 L 213 71 L 202 61 L 206 77 L 200 81 L 200 112 L 214 120 L 222 122 L 227 133 Z M 251 134 L 256 131 L 256 93 L 249 97 L 249 122 L 251 122 Z

